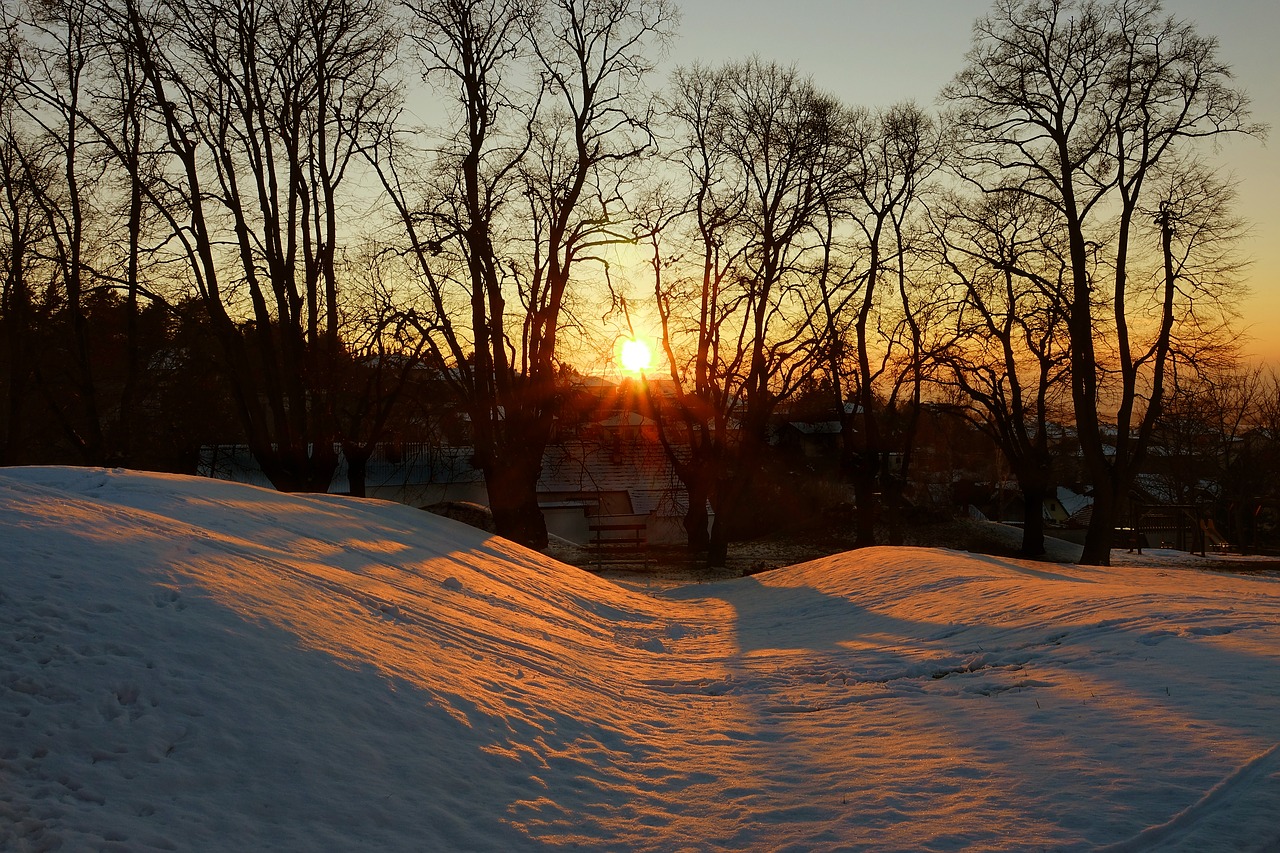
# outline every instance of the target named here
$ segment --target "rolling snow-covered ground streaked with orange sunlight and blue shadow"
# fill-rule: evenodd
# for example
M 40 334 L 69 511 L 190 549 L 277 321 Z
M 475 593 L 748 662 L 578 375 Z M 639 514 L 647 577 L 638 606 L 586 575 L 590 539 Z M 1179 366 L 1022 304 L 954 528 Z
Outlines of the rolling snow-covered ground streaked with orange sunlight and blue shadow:
M 1280 849 L 1280 578 L 1117 562 L 645 592 L 397 505 L 0 469 L 0 849 Z

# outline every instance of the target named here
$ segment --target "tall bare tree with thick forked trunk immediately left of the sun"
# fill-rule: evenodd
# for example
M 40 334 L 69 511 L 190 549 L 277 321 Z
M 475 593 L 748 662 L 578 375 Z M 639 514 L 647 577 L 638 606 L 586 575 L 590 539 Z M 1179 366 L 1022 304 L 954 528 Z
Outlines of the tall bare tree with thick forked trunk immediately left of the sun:
M 425 205 L 394 149 L 371 154 L 426 288 L 422 334 L 471 418 L 498 532 L 543 547 L 536 488 L 575 273 L 603 243 L 627 238 L 622 187 L 652 149 L 640 86 L 675 9 L 667 0 L 406 6 L 424 72 L 449 91 L 458 131 Z

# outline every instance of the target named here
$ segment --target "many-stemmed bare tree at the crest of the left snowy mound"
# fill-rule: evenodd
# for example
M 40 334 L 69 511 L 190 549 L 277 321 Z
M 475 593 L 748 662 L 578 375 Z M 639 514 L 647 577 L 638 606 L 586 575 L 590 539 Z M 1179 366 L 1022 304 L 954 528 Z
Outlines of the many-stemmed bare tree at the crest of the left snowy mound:
M 160 129 L 165 216 L 221 347 L 250 447 L 273 484 L 324 491 L 343 359 L 335 255 L 357 146 L 388 96 L 378 0 L 127 0 L 111 33 Z M 111 138 L 104 133 L 104 138 Z M 114 147 L 123 163 L 127 150 Z

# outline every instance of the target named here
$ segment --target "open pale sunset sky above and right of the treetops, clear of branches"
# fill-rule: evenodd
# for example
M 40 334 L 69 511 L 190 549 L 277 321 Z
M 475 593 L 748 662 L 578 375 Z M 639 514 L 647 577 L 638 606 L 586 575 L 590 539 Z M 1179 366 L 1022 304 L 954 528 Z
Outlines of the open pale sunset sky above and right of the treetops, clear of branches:
M 961 68 L 975 18 L 989 0 L 684 0 L 671 65 L 751 54 L 795 64 L 850 104 L 932 105 Z M 1268 142 L 1239 137 L 1221 152 L 1239 181 L 1239 213 L 1252 224 L 1242 246 L 1253 260 L 1242 315 L 1245 352 L 1280 365 L 1280 4 L 1275 0 L 1165 0 L 1221 42 L 1221 58 L 1272 127 Z

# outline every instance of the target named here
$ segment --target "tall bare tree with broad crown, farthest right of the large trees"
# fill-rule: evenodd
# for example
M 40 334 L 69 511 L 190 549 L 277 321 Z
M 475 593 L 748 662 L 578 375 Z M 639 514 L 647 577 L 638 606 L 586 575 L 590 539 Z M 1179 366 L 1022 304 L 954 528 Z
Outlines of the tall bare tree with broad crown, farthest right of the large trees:
M 998 0 L 945 96 L 966 174 L 1044 200 L 1066 231 L 1071 396 L 1093 484 L 1082 560 L 1106 565 L 1160 414 L 1171 318 L 1185 305 L 1176 270 L 1144 274 L 1158 270 L 1161 242 L 1140 240 L 1153 206 L 1143 202 L 1197 141 L 1256 131 L 1247 101 L 1217 42 L 1165 17 L 1158 0 Z

